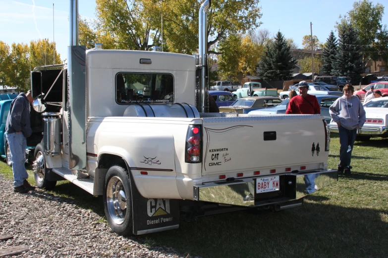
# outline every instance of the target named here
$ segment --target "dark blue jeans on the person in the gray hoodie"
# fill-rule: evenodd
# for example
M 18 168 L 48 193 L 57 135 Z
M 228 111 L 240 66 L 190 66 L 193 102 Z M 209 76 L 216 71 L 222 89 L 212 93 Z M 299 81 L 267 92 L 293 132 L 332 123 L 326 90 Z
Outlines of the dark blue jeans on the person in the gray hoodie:
M 339 148 L 339 166 L 345 169 L 350 167 L 350 160 L 354 141 L 357 136 L 357 129 L 349 130 L 340 126 L 338 127 L 338 134 L 339 143 L 341 144 L 341 147 Z

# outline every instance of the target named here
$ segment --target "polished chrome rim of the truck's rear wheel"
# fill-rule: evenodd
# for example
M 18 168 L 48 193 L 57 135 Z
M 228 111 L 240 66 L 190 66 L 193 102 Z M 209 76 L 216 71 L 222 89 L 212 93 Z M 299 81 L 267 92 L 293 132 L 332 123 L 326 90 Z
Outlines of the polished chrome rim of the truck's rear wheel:
M 112 176 L 107 185 L 107 207 L 113 222 L 120 225 L 127 213 L 127 195 L 121 179 Z

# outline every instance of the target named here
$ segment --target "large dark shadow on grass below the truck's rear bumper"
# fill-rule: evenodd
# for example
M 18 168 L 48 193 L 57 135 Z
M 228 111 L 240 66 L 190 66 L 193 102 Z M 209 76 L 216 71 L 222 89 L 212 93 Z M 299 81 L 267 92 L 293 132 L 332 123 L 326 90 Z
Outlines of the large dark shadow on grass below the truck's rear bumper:
M 181 221 L 177 230 L 144 238 L 211 258 L 386 257 L 388 223 L 381 213 L 387 211 L 305 203 L 278 213 L 236 212 Z

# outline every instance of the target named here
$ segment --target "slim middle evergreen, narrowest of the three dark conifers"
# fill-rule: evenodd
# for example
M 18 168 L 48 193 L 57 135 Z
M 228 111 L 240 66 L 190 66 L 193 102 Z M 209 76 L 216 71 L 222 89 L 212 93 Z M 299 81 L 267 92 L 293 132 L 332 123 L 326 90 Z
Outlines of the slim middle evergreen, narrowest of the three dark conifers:
M 337 62 L 337 39 L 333 31 L 330 33 L 322 52 L 322 60 L 324 62 L 322 71 L 324 75 L 333 75 Z

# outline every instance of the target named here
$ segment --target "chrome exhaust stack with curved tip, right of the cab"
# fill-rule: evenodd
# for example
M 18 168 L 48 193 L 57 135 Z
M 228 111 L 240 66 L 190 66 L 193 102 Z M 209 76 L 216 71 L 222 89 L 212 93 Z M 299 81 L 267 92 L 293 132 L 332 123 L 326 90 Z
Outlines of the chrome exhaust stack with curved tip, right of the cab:
M 199 9 L 199 58 L 198 67 L 201 69 L 199 76 L 199 112 L 209 112 L 209 79 L 208 79 L 208 10 L 210 0 L 205 0 Z

